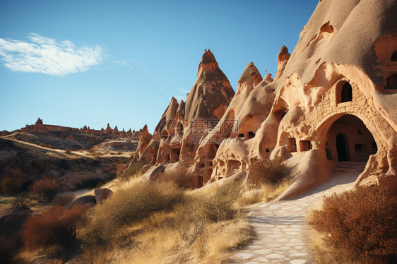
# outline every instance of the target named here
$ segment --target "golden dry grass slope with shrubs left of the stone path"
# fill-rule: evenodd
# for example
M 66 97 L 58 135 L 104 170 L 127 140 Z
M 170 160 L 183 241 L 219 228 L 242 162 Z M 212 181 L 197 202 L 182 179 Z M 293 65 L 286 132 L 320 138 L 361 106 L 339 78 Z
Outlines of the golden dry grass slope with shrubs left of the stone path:
M 142 188 L 134 184 L 120 189 L 103 206 L 94 208 L 90 225 L 83 232 L 88 238 L 86 254 L 81 256 L 83 263 L 92 263 L 93 259 L 95 263 L 222 263 L 233 248 L 249 239 L 249 224 L 235 208 L 239 186 L 198 195 L 170 184 L 156 185 Z M 148 195 L 153 192 L 151 188 L 160 192 L 157 197 Z M 127 210 L 123 208 L 124 216 L 110 220 L 112 208 L 125 204 L 137 191 L 142 192 L 138 194 L 141 198 L 134 198 Z M 151 210 L 137 213 L 141 205 Z M 107 223 L 103 222 L 105 218 Z M 98 221 L 100 228 L 93 230 Z M 90 239 L 93 232 L 102 241 Z

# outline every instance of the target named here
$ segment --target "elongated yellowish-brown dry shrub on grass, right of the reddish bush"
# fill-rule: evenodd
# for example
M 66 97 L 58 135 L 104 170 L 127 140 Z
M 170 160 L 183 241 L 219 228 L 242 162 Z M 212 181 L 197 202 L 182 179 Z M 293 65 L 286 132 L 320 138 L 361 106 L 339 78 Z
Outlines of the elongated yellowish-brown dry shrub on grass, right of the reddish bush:
M 146 182 L 121 189 L 90 212 L 85 240 L 92 246 L 106 246 L 122 227 L 154 212 L 172 210 L 181 199 L 182 191 L 171 184 Z

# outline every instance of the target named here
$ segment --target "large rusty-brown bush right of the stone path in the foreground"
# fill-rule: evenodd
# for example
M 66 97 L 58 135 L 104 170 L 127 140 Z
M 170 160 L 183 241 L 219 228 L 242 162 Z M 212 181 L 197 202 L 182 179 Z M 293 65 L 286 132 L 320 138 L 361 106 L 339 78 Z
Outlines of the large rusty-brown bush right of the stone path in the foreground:
M 397 196 L 358 186 L 324 199 L 311 224 L 333 255 L 358 263 L 397 263 Z

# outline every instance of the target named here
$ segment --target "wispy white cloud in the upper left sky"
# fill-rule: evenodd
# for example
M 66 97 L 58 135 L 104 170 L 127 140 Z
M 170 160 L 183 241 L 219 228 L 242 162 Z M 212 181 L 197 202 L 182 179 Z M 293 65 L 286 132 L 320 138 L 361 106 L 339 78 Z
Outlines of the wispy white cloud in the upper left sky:
M 57 42 L 35 33 L 28 38 L 30 42 L 0 38 L 0 56 L 4 66 L 13 71 L 64 76 L 88 71 L 103 59 L 100 46 L 76 47 L 70 40 Z

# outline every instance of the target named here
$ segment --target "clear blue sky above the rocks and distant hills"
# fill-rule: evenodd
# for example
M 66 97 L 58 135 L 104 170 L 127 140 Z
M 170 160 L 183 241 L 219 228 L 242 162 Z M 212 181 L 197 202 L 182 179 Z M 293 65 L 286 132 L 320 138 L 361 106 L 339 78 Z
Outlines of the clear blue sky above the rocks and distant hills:
M 254 62 L 275 74 L 318 0 L 0 1 L 0 131 L 34 124 L 153 132 L 186 98 L 204 49 L 237 89 Z M 133 64 L 162 95 L 132 68 Z

